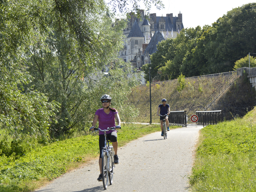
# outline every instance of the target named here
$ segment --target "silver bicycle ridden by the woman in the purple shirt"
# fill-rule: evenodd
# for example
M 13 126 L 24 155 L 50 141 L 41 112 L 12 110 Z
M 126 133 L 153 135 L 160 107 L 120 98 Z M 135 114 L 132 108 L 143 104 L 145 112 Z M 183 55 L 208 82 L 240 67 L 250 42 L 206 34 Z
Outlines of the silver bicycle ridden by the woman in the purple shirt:
M 101 130 L 100 128 L 94 128 L 95 131 L 103 131 L 105 136 L 105 145 L 102 148 L 102 182 L 104 189 L 107 189 L 108 182 L 110 185 L 113 183 L 113 174 L 114 174 L 114 149 L 113 146 L 109 145 L 109 140 L 107 139 L 107 131 L 115 130 L 116 127 L 108 127 L 107 129 Z M 92 130 L 90 130 L 92 131 Z

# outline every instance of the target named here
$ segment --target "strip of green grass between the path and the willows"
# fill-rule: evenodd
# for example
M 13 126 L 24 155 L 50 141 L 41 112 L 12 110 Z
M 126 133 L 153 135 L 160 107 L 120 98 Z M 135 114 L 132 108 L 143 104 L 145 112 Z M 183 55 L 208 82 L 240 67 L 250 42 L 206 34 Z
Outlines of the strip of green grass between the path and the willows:
M 155 131 L 160 131 L 159 125 L 123 125 L 118 132 L 119 146 Z M 19 159 L 15 159 L 15 156 L 6 157 L 0 150 L 0 192 L 34 190 L 89 159 L 96 158 L 99 155 L 98 138 L 95 133 L 57 141 L 33 149 Z

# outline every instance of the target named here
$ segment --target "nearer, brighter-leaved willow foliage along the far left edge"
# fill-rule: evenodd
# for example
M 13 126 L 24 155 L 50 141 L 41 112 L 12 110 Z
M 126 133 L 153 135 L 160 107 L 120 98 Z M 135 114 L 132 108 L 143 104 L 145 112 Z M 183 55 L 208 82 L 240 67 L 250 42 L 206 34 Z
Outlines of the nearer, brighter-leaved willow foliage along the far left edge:
M 48 137 L 49 126 L 55 119 L 57 103 L 23 85 L 31 82 L 31 76 L 25 72 L 27 46 L 40 40 L 37 31 L 32 31 L 34 19 L 20 6 L 25 1 L 1 1 L 0 8 L 0 125 L 6 134 L 23 141 L 31 137 Z M 33 7 L 33 3 L 28 3 Z M 24 13 L 27 14 L 24 14 Z

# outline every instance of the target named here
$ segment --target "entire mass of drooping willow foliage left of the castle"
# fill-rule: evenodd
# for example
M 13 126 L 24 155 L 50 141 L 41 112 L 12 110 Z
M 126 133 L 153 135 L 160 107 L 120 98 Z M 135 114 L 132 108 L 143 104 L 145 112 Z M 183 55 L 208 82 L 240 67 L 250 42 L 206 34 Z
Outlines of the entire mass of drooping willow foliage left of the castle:
M 116 1 L 116 5 L 122 9 L 125 2 Z M 161 1 L 150 3 L 160 5 Z M 111 90 L 104 93 L 118 92 L 112 84 L 121 80 L 125 81 L 124 87 L 116 98 L 124 102 L 129 87 L 136 82 L 124 78 L 129 69 L 116 59 L 126 23 L 115 20 L 104 1 L 3 0 L 0 6 L 0 96 L 6 101 L 0 109 L 2 127 L 26 132 L 28 129 L 23 126 L 31 123 L 36 125 L 28 131 L 31 135 L 40 130 L 45 136 L 50 131 L 52 137 L 71 134 L 90 123 L 94 109 L 91 106 L 98 103 L 92 98 L 99 97 L 92 97 L 92 93 L 103 94 L 99 90 L 104 86 Z M 91 83 L 93 75 L 104 79 L 98 72 L 106 64 L 115 66 L 110 67 L 110 77 L 114 79 L 106 80 L 111 83 Z M 119 74 L 117 64 L 121 67 Z M 120 113 L 123 120 L 136 114 L 126 109 Z M 20 120 L 21 111 L 27 122 Z

